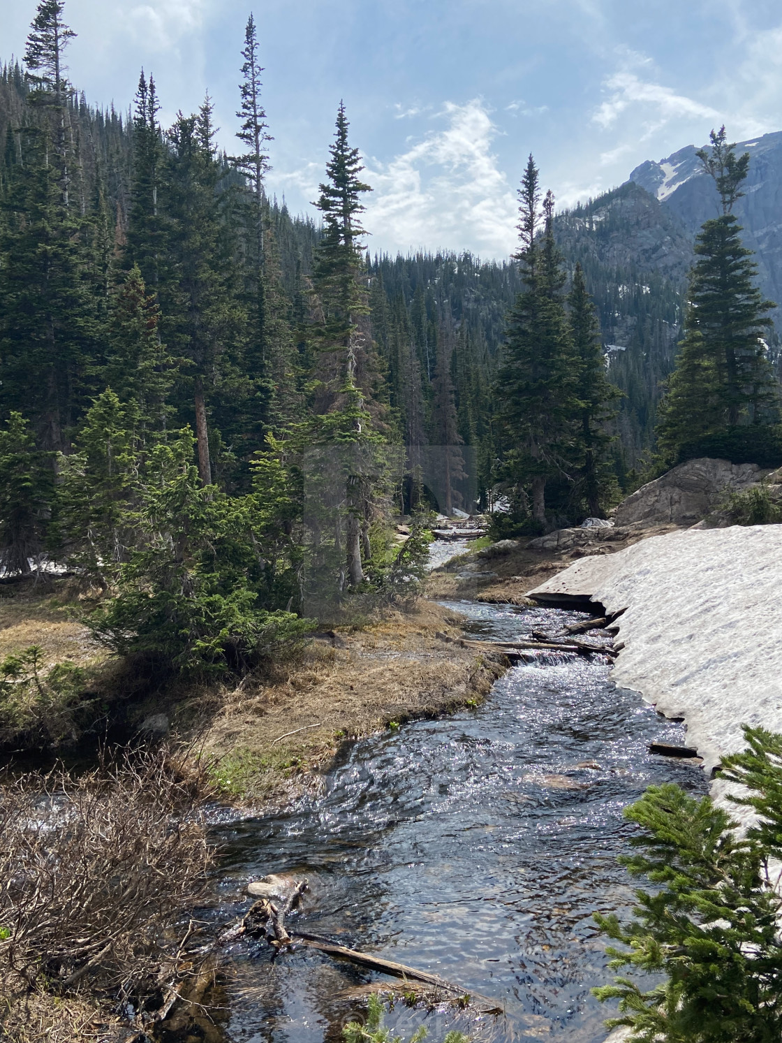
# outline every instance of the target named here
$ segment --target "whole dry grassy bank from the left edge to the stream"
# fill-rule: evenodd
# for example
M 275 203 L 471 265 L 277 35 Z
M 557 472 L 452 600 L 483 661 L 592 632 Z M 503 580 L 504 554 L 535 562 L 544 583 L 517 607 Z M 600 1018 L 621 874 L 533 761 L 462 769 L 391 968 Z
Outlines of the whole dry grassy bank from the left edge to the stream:
M 460 645 L 458 616 L 421 599 L 316 634 L 241 680 L 185 681 L 109 656 L 79 622 L 90 603 L 69 580 L 3 592 L 0 658 L 40 649 L 25 699 L 13 684 L 0 697 L 6 753 L 89 757 L 106 735 L 166 735 L 209 757 L 226 799 L 255 806 L 317 787 L 345 742 L 475 704 L 503 670 Z M 78 683 L 47 687 L 63 664 Z

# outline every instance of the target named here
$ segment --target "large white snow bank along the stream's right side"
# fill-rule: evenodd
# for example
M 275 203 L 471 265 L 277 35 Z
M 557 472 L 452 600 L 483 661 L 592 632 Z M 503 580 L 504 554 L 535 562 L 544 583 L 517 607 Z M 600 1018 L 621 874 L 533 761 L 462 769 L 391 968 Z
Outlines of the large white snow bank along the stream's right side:
M 530 593 L 627 608 L 614 680 L 684 718 L 706 770 L 743 746 L 744 723 L 782 732 L 782 526 L 653 536 L 583 558 Z

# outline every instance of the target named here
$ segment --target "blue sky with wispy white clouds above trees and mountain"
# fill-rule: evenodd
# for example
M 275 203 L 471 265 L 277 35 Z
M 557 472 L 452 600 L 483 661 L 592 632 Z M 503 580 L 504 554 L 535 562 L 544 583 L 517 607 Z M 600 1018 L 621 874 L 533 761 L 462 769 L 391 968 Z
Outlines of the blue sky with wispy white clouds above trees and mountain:
M 34 9 L 3 0 L 0 55 L 23 52 Z M 736 140 L 782 129 L 776 0 L 66 0 L 71 78 L 124 110 L 143 66 L 169 121 L 209 89 L 230 151 L 251 9 L 268 190 L 311 210 L 344 98 L 373 250 L 507 256 L 531 151 L 564 207 L 722 122 Z

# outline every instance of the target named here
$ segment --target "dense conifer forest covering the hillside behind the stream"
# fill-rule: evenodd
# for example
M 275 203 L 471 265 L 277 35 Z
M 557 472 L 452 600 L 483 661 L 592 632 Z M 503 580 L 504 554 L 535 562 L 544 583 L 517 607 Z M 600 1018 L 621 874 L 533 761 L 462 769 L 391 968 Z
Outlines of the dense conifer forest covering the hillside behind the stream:
M 66 75 L 73 34 L 43 0 L 24 67 L 0 75 L 6 572 L 54 559 L 112 591 L 93 626 L 119 651 L 236 664 L 303 612 L 415 582 L 422 544 L 397 553 L 392 511 L 499 503 L 517 532 L 637 481 L 692 260 L 655 196 L 628 184 L 556 215 L 531 156 L 514 259 L 370 257 L 342 105 L 317 222 L 267 196 L 251 17 L 235 155 L 209 96 L 162 127 L 144 73 L 127 116 L 91 107 Z M 752 300 L 754 357 L 773 338 Z M 776 415 L 765 365 L 729 360 L 732 405 L 715 391 L 702 433 L 720 410 Z

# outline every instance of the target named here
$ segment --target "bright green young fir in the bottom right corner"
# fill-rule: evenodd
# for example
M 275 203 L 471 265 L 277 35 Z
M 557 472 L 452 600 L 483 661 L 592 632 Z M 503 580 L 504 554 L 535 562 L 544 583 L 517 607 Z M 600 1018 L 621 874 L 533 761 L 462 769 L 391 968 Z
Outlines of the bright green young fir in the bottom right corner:
M 618 998 L 632 1040 L 653 1043 L 772 1043 L 782 1036 L 782 898 L 773 860 L 782 855 L 782 735 L 744 728 L 748 749 L 727 757 L 724 775 L 746 787 L 732 798 L 757 823 L 741 835 L 709 797 L 651 786 L 626 810 L 641 827 L 634 855 L 620 859 L 652 891 L 636 891 L 629 923 L 595 914 L 609 938 L 611 967 L 665 979 L 644 991 L 632 978 L 595 989 Z

